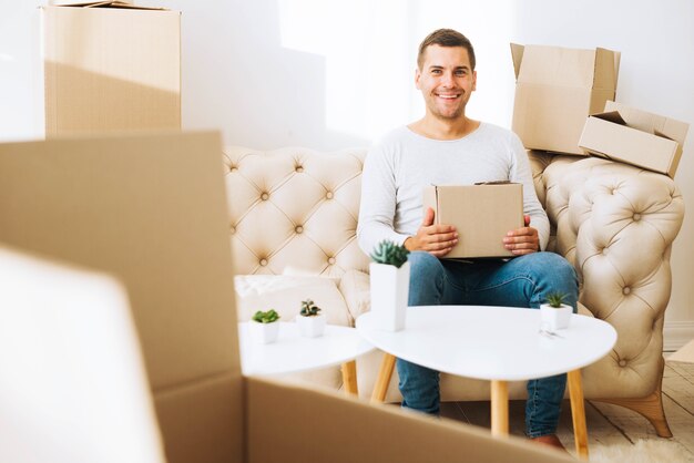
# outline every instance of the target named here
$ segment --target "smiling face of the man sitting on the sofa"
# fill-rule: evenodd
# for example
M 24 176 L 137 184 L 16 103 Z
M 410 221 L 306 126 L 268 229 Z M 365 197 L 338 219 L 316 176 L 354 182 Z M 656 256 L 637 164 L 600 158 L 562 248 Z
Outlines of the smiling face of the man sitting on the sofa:
M 446 120 L 465 114 L 476 83 L 477 72 L 471 69 L 468 50 L 463 47 L 427 47 L 422 66 L 415 75 L 427 113 Z

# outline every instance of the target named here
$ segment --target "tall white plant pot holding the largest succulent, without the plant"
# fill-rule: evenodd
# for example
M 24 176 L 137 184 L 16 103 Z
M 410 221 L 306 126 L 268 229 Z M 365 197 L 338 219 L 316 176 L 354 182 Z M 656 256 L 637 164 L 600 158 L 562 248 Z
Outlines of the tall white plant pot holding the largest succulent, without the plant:
M 371 263 L 371 311 L 378 327 L 386 331 L 405 329 L 405 315 L 410 289 L 410 263 L 400 268 Z

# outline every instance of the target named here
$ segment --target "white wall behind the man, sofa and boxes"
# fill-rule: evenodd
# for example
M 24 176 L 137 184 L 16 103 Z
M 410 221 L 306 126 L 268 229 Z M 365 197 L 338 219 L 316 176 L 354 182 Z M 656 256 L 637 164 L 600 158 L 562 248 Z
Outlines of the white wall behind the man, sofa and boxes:
M 0 0 L 0 140 L 35 136 L 30 56 L 39 1 Z M 183 123 L 228 144 L 363 146 L 423 111 L 412 79 L 431 30 L 478 54 L 472 117 L 510 126 L 509 42 L 622 52 L 618 101 L 694 124 L 691 0 L 141 0 L 183 11 Z M 676 182 L 694 204 L 694 128 Z M 666 342 L 694 337 L 694 222 L 674 245 Z M 681 336 L 682 338 L 680 338 Z

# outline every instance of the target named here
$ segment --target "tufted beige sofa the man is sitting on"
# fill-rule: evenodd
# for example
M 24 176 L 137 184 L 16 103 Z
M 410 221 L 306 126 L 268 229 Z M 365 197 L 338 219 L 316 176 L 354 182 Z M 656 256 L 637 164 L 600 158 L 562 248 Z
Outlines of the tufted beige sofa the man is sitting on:
M 366 150 L 234 146 L 224 154 L 236 274 L 248 275 L 236 281 L 239 317 L 272 303 L 290 319 L 297 298 L 312 297 L 331 322 L 354 323 L 369 309 L 368 258 L 356 240 Z M 583 370 L 586 399 L 629 407 L 659 435 L 670 436 L 661 382 L 670 251 L 684 216 L 676 185 L 664 175 L 594 157 L 529 156 L 552 224 L 549 250 L 578 270 L 580 311 L 609 321 L 619 333 L 612 352 Z M 381 357 L 357 362 L 360 395 L 372 390 Z M 313 380 L 338 388 L 339 370 Z M 510 385 L 511 398 L 524 394 L 523 383 Z M 489 385 L 443 374 L 441 397 L 487 400 Z M 399 399 L 396 372 L 387 400 Z

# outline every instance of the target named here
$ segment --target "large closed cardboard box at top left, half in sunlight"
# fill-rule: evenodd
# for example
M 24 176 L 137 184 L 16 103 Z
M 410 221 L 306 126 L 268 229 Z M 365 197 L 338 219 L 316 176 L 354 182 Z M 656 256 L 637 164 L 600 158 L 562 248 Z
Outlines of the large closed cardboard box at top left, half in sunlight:
M 181 13 L 41 8 L 45 136 L 181 128 Z

